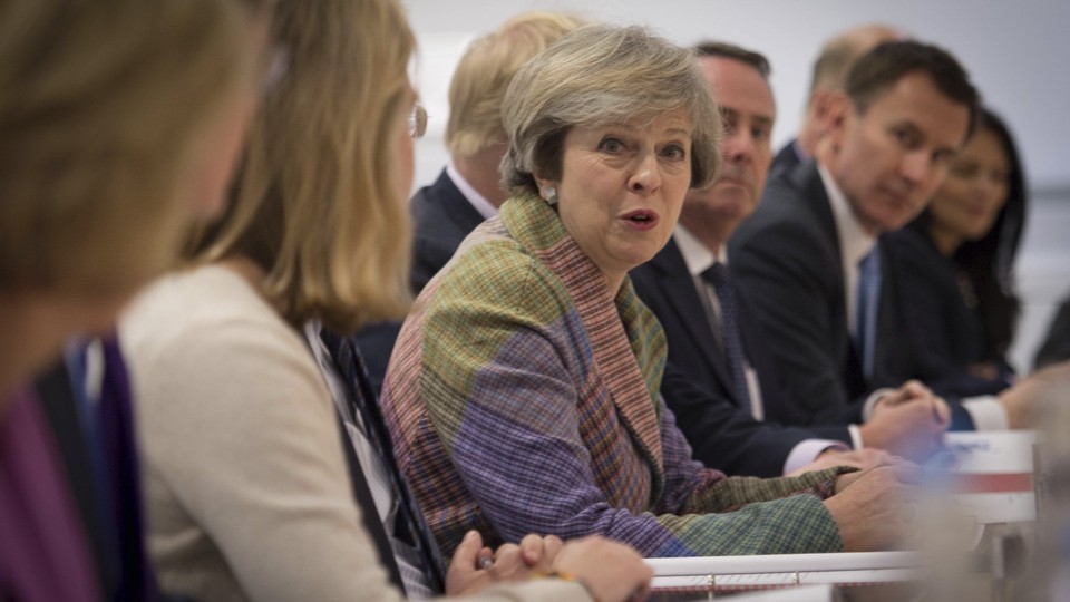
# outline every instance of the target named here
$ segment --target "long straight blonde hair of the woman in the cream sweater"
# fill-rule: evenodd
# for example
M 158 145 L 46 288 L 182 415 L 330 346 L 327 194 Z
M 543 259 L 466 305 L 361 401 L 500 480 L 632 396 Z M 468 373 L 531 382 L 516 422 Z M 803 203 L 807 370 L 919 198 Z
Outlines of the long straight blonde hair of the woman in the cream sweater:
M 403 315 L 410 227 L 396 190 L 416 48 L 396 0 L 280 2 L 285 76 L 264 98 L 222 221 L 193 258 L 253 260 L 292 324 L 338 331 Z

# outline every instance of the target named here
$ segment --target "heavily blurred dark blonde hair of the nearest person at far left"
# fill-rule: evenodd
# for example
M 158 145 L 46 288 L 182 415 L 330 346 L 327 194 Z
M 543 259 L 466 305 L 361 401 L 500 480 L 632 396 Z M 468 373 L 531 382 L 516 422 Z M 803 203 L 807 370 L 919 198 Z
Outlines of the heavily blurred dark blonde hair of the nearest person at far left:
M 196 140 L 252 86 L 247 9 L 0 6 L 0 290 L 127 294 L 174 263 Z

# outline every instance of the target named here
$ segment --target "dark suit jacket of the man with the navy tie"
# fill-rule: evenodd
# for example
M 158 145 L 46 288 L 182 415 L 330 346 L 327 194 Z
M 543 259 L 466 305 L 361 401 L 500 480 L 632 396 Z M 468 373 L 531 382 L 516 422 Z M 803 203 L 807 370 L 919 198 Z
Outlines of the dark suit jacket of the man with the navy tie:
M 758 375 L 766 421 L 751 416 L 750 400 L 736 399 L 727 359 L 709 328 L 702 301 L 674 240 L 644 265 L 632 270 L 632 282 L 658 315 L 669 340 L 670 368 L 662 382 L 665 402 L 693 447 L 694 457 L 729 474 L 778 476 L 791 448 L 811 438 L 850 441 L 845 426 L 808 429 L 786 428 L 799 424 L 797 405 L 787 402 L 771 358 L 765 350 L 745 302 L 739 307 L 740 336 L 751 367 Z M 687 381 L 678 382 L 675 378 Z

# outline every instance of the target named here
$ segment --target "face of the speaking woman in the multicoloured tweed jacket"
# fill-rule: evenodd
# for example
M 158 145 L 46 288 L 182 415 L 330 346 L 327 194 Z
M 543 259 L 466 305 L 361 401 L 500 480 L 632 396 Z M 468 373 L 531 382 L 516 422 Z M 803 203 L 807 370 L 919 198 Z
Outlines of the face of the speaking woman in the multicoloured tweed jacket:
M 669 241 L 691 184 L 691 125 L 682 111 L 650 122 L 574 127 L 555 186 L 565 230 L 616 290 Z

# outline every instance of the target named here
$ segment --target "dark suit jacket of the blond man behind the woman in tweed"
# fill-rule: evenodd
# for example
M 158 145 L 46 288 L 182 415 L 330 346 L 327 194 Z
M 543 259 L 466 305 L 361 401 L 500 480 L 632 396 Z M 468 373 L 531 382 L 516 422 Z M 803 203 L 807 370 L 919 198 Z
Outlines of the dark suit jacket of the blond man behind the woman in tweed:
M 412 216 L 412 268 L 409 284 L 419 294 L 428 281 L 454 256 L 454 251 L 469 232 L 483 223 L 483 215 L 471 206 L 446 169 L 430 186 L 424 186 L 409 201 Z M 371 324 L 354 337 L 364 356 L 368 377 L 376 394 L 382 392 L 387 365 L 398 340 L 401 322 Z

